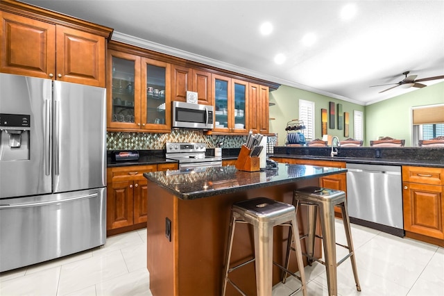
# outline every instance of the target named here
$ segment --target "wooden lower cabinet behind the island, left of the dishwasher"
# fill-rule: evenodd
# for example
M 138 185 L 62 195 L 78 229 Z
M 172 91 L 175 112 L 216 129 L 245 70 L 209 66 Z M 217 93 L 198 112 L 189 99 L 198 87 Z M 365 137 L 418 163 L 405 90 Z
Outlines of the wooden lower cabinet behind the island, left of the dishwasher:
M 296 159 L 296 158 L 276 158 L 274 161 L 278 163 L 289 163 L 296 165 L 315 165 L 319 167 L 345 167 L 345 163 L 341 161 L 316 161 L 311 159 Z M 323 176 L 319 178 L 319 187 L 330 188 L 336 190 L 342 190 L 347 194 L 347 174 L 332 174 L 330 176 Z M 342 217 L 341 209 L 339 207 L 334 208 L 334 215 L 336 217 Z

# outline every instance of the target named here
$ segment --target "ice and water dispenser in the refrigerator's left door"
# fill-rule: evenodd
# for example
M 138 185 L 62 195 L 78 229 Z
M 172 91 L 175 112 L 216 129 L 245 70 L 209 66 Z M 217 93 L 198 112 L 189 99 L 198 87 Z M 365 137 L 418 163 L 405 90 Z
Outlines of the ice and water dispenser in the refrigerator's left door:
M 29 160 L 31 115 L 0 113 L 0 161 Z

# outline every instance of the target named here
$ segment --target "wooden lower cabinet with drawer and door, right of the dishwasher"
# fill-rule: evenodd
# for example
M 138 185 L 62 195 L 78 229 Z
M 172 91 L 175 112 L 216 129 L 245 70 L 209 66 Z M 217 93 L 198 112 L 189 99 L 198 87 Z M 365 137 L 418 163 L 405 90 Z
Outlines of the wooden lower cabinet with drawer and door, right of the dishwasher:
M 444 169 L 402 167 L 406 236 L 444 247 Z

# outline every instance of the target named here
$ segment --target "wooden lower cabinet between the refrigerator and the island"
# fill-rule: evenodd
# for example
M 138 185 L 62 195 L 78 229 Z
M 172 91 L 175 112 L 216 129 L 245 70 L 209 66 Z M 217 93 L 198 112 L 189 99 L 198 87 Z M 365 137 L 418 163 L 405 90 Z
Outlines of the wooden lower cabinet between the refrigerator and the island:
M 107 236 L 146 227 L 148 190 L 144 172 L 176 170 L 177 167 L 177 163 L 108 167 Z

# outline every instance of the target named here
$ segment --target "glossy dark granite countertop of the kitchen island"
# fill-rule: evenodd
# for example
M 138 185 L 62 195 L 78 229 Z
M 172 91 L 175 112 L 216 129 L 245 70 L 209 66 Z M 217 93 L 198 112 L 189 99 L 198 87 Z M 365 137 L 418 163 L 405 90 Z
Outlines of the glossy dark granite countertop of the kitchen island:
M 255 188 L 276 186 L 329 174 L 347 172 L 338 167 L 278 164 L 278 170 L 243 172 L 234 165 L 194 170 L 148 172 L 144 176 L 180 199 L 199 199 Z

